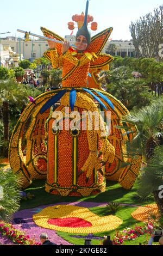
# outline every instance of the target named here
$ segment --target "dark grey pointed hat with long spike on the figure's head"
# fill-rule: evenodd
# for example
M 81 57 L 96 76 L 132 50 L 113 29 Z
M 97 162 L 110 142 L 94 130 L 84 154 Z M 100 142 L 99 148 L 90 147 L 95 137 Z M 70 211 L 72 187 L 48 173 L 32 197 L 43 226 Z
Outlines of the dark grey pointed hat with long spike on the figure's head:
M 84 35 L 85 38 L 87 39 L 87 44 L 89 45 L 91 42 L 91 33 L 87 29 L 87 10 L 89 7 L 89 0 L 86 2 L 86 9 L 85 9 L 85 18 L 84 18 L 84 23 L 82 28 L 80 28 L 76 34 L 76 39 L 78 38 L 79 35 Z

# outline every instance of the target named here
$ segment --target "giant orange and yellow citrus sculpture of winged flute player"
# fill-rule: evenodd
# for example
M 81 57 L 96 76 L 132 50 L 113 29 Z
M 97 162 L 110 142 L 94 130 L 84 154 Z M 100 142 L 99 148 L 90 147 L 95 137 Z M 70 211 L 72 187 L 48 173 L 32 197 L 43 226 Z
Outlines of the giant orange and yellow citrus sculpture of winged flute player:
M 82 32 L 79 29 L 77 35 L 87 29 L 87 8 L 88 1 Z M 64 38 L 52 31 L 43 27 L 41 30 L 46 37 L 64 42 Z M 45 190 L 49 193 L 90 196 L 105 191 L 105 179 L 118 181 L 126 189 L 134 185 L 141 157 L 133 160 L 124 157 L 126 142 L 134 133 L 127 136 L 124 129 L 115 127 L 122 126 L 121 117 L 129 112 L 101 88 L 97 79 L 99 71 L 113 60 L 109 54 L 101 53 L 111 32 L 110 27 L 89 38 L 82 52 L 70 47 L 62 54 L 62 45 L 56 43 L 55 49 L 44 53 L 54 69 L 62 69 L 62 88 L 51 89 L 30 102 L 12 133 L 9 162 L 13 172 L 21 176 L 23 188 L 34 179 L 45 179 Z M 54 107 L 57 102 L 58 107 Z M 109 133 L 105 125 L 108 112 L 111 113 Z M 96 120 L 93 113 L 97 114 Z M 90 115 L 92 129 L 89 129 Z M 95 129 L 99 118 L 100 127 Z M 58 125 L 56 120 L 60 119 Z M 127 125 L 136 131 L 136 127 Z M 128 162 L 126 167 L 121 167 L 122 162 Z

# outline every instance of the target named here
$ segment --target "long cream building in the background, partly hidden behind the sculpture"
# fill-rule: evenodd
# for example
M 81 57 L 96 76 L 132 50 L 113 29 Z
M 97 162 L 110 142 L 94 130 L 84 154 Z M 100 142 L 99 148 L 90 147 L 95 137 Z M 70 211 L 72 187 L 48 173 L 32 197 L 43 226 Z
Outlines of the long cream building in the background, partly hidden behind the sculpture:
M 65 35 L 65 39 L 70 44 L 74 44 L 76 40 L 74 35 Z M 1 63 L 5 66 L 5 60 L 8 61 L 9 59 L 13 60 L 16 66 L 18 61 L 22 59 L 29 59 L 32 62 L 34 59 L 42 57 L 43 52 L 46 50 L 48 50 L 46 40 L 34 38 L 25 42 L 22 38 L 7 36 L 6 38 L 1 38 Z M 108 40 L 102 52 L 109 53 L 112 56 L 133 57 L 134 51 L 135 47 L 132 40 Z

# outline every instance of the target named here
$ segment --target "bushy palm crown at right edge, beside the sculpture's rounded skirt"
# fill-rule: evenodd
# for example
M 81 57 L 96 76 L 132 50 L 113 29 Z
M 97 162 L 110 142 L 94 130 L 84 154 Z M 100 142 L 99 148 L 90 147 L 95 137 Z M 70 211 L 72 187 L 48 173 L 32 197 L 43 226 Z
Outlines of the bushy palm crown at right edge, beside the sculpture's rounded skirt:
M 136 125 L 137 135 L 129 143 L 131 153 L 139 153 L 147 157 L 152 153 L 154 147 L 162 141 L 163 133 L 163 101 L 159 99 L 151 105 L 131 111 L 130 114 L 122 117 L 122 121 L 131 125 Z M 125 126 L 124 126 L 125 127 Z M 126 127 L 125 127 L 126 128 Z M 147 159 L 146 159 L 147 160 Z

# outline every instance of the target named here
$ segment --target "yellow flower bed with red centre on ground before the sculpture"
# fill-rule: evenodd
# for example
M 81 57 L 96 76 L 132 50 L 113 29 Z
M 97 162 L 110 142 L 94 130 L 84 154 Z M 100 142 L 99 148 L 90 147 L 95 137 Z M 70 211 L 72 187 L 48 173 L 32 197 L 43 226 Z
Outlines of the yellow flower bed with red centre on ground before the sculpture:
M 122 220 L 109 215 L 99 217 L 85 207 L 74 205 L 49 206 L 33 215 L 36 225 L 68 233 L 98 233 L 117 228 Z

